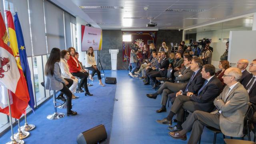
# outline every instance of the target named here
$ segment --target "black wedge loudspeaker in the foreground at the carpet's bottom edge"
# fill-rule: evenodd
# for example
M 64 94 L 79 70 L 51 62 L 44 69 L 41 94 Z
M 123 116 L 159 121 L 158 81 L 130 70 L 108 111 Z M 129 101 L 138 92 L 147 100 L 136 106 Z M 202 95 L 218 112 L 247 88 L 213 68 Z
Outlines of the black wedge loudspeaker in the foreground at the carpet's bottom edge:
M 100 124 L 90 130 L 79 134 L 76 138 L 78 144 L 95 144 L 107 139 L 107 132 L 104 125 Z

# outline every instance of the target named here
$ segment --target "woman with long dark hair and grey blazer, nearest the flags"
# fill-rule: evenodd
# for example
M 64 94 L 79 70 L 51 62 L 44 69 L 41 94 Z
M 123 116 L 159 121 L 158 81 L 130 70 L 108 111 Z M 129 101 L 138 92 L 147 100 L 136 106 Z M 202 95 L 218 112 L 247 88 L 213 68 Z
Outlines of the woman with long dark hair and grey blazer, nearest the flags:
M 45 75 L 45 89 L 46 90 L 60 90 L 66 95 L 67 116 L 77 115 L 77 112 L 72 111 L 72 92 L 68 89 L 73 82 L 68 82 L 61 77 L 60 72 L 60 49 L 52 48 L 50 56 L 46 62 Z

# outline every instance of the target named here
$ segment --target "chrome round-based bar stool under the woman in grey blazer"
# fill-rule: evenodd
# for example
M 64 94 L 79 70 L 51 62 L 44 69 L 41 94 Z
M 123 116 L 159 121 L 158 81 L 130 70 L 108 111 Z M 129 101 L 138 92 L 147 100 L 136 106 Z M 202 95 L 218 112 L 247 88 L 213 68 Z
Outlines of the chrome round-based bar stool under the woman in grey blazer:
M 44 86 L 44 82 L 41 82 L 41 85 Z M 54 113 L 47 116 L 48 120 L 57 120 L 57 119 L 63 118 L 65 116 L 65 114 L 57 112 L 58 106 L 56 105 L 56 103 L 57 103 L 56 102 L 56 91 L 54 90 L 53 91 Z M 59 103 L 59 104 L 61 104 L 61 103 Z M 63 104 L 61 104 L 59 106 L 63 106 L 63 105 L 66 106 L 66 102 L 64 102 Z

